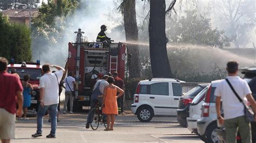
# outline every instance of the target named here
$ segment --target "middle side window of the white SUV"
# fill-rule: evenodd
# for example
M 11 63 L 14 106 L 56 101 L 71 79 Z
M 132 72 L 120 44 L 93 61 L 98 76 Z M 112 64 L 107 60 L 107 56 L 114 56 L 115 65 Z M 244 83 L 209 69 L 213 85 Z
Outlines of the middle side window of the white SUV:
M 151 84 L 150 94 L 169 96 L 169 84 L 168 83 Z

